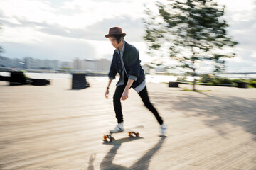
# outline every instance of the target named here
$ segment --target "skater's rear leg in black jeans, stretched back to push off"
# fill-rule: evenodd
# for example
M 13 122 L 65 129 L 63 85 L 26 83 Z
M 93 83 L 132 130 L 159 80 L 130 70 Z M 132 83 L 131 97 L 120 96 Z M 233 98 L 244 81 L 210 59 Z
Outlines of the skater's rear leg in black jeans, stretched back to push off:
M 148 108 L 149 111 L 151 111 L 154 114 L 158 123 L 160 125 L 163 124 L 163 120 L 162 120 L 161 116 L 156 111 L 156 108 L 154 108 L 154 106 L 149 101 L 149 94 L 147 93 L 146 86 L 142 91 L 139 92 L 139 96 L 142 98 L 142 101 L 143 101 L 144 105 L 146 106 L 146 108 Z

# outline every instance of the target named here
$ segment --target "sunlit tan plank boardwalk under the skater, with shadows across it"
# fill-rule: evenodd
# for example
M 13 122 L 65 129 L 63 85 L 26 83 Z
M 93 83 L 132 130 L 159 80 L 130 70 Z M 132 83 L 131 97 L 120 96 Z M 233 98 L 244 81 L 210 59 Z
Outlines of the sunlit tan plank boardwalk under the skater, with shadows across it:
M 124 127 L 144 126 L 141 137 L 119 134 L 105 143 L 103 132 L 116 124 L 112 97 L 104 98 L 107 81 L 90 85 L 70 90 L 70 79 L 50 86 L 0 81 L 0 169 L 256 169 L 255 89 L 198 86 L 212 91 L 196 93 L 149 83 L 166 137 L 131 90 L 122 102 Z

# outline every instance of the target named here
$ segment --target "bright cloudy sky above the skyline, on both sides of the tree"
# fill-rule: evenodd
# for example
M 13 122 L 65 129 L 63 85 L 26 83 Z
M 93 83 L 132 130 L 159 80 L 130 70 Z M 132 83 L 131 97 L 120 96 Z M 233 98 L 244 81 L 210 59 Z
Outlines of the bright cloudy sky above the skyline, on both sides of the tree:
M 164 0 L 163 0 L 164 1 Z M 227 72 L 255 72 L 256 0 L 216 0 L 225 5 L 228 35 L 239 44 L 235 58 L 226 60 Z M 114 47 L 105 38 L 109 28 L 122 27 L 127 42 L 138 48 L 142 63 L 146 54 L 142 18 L 150 0 L 1 0 L 1 55 L 10 58 L 72 62 L 74 58 L 112 59 Z M 203 72 L 203 71 L 202 71 Z

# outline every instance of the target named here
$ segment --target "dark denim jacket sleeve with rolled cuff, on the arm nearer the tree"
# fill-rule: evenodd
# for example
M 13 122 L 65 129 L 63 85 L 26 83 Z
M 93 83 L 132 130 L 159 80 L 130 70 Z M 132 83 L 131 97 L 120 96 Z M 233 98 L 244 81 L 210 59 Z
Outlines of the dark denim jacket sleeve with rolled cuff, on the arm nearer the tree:
M 129 75 L 128 79 L 133 79 L 134 81 L 137 80 L 137 77 L 139 77 L 139 71 L 140 71 L 140 60 L 139 60 L 139 51 L 133 47 L 129 54 Z

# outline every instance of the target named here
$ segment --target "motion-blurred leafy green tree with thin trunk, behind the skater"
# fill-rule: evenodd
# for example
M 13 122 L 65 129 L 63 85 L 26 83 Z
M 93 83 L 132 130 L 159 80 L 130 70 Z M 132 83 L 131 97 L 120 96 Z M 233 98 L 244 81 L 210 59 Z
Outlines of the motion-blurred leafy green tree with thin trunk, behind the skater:
M 193 77 L 198 64 L 215 66 L 214 72 L 225 69 L 225 57 L 235 57 L 223 18 L 225 6 L 213 0 L 169 0 L 156 3 L 157 13 L 146 8 L 144 40 L 151 55 L 168 55 Z M 163 52 L 166 52 L 165 54 Z M 193 82 L 193 90 L 195 91 Z

